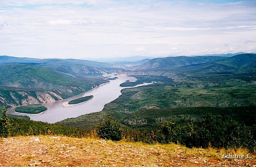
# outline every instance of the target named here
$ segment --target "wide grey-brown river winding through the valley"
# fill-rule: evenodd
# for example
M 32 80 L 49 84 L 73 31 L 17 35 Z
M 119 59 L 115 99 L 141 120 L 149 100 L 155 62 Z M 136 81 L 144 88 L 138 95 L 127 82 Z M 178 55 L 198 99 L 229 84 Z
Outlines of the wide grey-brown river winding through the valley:
M 114 74 L 105 74 L 103 76 L 111 76 L 115 77 Z M 128 76 L 117 76 L 118 79 L 110 80 L 109 83 L 103 84 L 99 87 L 96 87 L 88 92 L 82 93 L 80 95 L 70 97 L 64 100 L 59 100 L 55 102 L 45 102 L 42 103 L 43 106 L 47 107 L 47 110 L 38 115 L 29 115 L 29 114 L 22 114 L 27 115 L 30 117 L 31 120 L 35 121 L 43 121 L 48 123 L 55 123 L 61 121 L 66 118 L 75 118 L 80 115 L 98 112 L 104 108 L 104 105 L 115 100 L 121 95 L 121 90 L 125 87 L 120 87 L 119 85 L 126 80 L 136 80 L 134 77 Z M 141 84 L 148 85 L 150 83 Z M 69 107 L 64 107 L 63 103 L 67 103 L 70 100 L 74 100 L 80 97 L 93 95 L 93 98 L 87 102 L 83 102 L 80 104 L 76 104 Z M 16 107 L 9 108 L 7 110 L 8 114 L 15 114 L 21 115 L 20 113 L 15 112 Z

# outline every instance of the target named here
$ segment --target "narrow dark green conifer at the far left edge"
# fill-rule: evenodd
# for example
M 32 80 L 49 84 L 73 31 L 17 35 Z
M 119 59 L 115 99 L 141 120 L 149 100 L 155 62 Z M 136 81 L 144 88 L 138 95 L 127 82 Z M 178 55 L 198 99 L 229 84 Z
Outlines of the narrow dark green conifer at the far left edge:
M 0 118 L 0 137 L 9 135 L 10 119 L 7 118 L 5 107 L 2 109 L 2 118 Z

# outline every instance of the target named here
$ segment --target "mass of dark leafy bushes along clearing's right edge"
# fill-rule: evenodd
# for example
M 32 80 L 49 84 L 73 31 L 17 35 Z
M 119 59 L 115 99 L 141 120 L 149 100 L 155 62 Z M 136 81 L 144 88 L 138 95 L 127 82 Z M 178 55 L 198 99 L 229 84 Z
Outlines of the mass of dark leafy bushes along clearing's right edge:
M 150 142 L 176 143 L 189 148 L 247 148 L 256 150 L 256 125 L 246 126 L 230 118 L 206 114 L 198 124 L 165 122 L 149 136 Z

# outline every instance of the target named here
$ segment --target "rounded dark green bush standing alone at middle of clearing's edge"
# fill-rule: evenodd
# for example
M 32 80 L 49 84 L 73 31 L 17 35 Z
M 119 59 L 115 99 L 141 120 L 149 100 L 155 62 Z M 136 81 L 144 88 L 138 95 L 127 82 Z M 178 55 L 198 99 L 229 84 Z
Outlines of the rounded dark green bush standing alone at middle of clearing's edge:
M 107 116 L 105 122 L 101 122 L 96 128 L 97 136 L 106 139 L 118 141 L 123 138 L 122 129 L 116 121 L 111 121 Z

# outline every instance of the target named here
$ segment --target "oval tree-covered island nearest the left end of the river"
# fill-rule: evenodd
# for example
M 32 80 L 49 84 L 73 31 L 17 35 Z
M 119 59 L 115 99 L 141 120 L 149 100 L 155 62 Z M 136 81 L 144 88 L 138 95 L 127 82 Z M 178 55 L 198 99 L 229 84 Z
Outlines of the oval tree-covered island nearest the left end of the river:
M 26 113 L 26 114 L 39 114 L 46 111 L 47 108 L 41 104 L 33 104 L 27 106 L 20 106 L 15 109 L 15 112 Z

